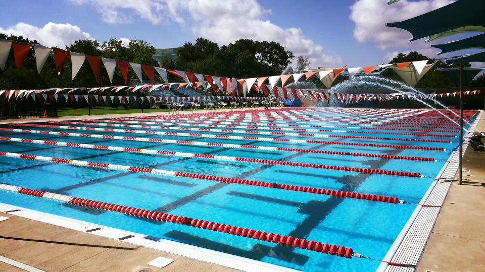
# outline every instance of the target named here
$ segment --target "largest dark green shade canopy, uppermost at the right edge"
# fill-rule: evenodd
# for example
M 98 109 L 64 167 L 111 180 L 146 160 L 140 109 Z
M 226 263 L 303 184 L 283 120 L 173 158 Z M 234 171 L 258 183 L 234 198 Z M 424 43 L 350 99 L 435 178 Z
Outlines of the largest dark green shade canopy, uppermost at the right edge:
M 485 1 L 459 0 L 440 9 L 386 26 L 402 28 L 411 32 L 410 41 L 430 37 L 429 40 L 461 32 L 485 32 Z M 428 40 L 428 41 L 429 41 Z

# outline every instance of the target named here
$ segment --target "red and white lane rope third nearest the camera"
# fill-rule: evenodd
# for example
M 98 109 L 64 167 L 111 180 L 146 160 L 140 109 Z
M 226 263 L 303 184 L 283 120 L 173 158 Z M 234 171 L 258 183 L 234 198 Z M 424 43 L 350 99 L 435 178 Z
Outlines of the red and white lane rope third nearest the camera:
M 383 169 L 369 169 L 369 168 L 361 168 L 361 167 L 347 167 L 347 166 L 336 166 L 336 165 L 326 165 L 326 164 L 275 161 L 275 160 L 254 159 L 254 158 L 244 158 L 244 157 L 231 157 L 231 156 L 219 156 L 219 155 L 210 155 L 210 154 L 175 152 L 175 151 L 168 151 L 168 150 L 154 150 L 154 149 L 142 149 L 142 148 L 130 148 L 130 147 L 91 145 L 91 144 L 82 144 L 82 143 L 45 141 L 45 140 L 11 138 L 11 137 L 0 137 L 0 140 L 10 141 L 10 142 L 19 142 L 19 143 L 32 143 L 32 144 L 38 144 L 38 145 L 52 145 L 52 146 L 62 146 L 62 147 L 74 147 L 74 148 L 85 148 L 85 149 L 96 149 L 96 150 L 120 151 L 120 152 L 128 152 L 128 153 L 161 155 L 161 156 L 165 155 L 165 156 L 173 156 L 173 157 L 198 158 L 198 159 L 214 160 L 214 161 L 243 162 L 243 163 L 256 163 L 256 164 L 266 164 L 266 165 L 282 165 L 282 166 L 293 166 L 293 167 L 303 167 L 303 168 L 316 168 L 316 169 L 329 169 L 329 170 L 337 170 L 337 171 L 360 172 L 360 173 L 365 173 L 365 174 L 381 174 L 381 175 L 392 175 L 392 176 L 420 177 L 420 174 L 416 173 L 416 172 L 403 172 L 403 171 L 393 171 L 393 170 L 383 170 Z

